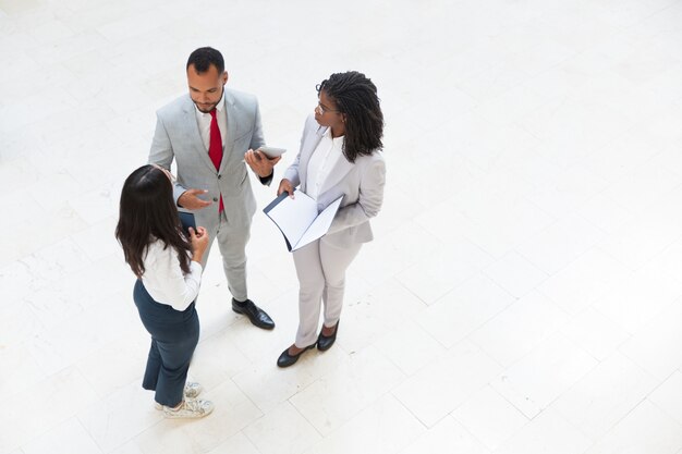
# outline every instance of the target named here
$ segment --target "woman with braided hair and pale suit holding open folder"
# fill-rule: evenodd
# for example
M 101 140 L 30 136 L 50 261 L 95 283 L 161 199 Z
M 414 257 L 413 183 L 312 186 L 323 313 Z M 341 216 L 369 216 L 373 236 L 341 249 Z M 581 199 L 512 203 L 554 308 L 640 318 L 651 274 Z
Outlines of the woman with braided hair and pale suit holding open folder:
M 363 243 L 373 240 L 369 219 L 383 200 L 386 165 L 381 154 L 383 114 L 377 87 L 364 74 L 332 74 L 317 86 L 318 103 L 303 131 L 301 149 L 287 169 L 278 195 L 294 187 L 321 211 L 343 196 L 327 234 L 293 253 L 299 277 L 299 330 L 277 360 L 289 367 L 306 351 L 330 348 L 339 331 L 345 270 Z M 317 333 L 320 306 L 322 328 Z

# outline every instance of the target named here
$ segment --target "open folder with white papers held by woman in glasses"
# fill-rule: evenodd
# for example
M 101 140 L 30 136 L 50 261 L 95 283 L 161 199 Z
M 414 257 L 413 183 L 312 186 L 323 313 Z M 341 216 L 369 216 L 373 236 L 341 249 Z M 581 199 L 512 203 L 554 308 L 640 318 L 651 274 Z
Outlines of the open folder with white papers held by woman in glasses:
M 263 212 L 279 228 L 284 235 L 287 248 L 292 251 L 327 233 L 342 198 L 343 196 L 339 197 L 318 213 L 317 201 L 307 194 L 296 191 L 294 198 L 291 198 L 288 193 L 282 193 Z

